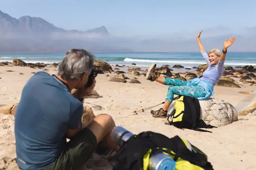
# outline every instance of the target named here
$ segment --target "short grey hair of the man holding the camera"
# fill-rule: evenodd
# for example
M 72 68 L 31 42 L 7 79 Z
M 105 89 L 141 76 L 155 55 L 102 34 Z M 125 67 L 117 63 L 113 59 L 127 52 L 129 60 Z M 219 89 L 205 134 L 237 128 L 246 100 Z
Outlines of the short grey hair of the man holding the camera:
M 69 50 L 58 65 L 58 75 L 64 80 L 81 80 L 82 74 L 90 74 L 94 55 L 83 49 Z

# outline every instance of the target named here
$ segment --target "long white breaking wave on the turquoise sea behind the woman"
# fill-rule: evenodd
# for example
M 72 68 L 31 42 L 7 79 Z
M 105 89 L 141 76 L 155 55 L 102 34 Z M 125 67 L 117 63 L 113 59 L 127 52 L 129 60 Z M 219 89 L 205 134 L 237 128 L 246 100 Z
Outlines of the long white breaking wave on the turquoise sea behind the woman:
M 125 62 L 151 62 L 151 63 L 172 63 L 172 64 L 206 64 L 205 61 L 170 61 L 170 60 L 149 60 L 125 58 Z M 256 65 L 256 63 L 225 62 L 225 65 Z

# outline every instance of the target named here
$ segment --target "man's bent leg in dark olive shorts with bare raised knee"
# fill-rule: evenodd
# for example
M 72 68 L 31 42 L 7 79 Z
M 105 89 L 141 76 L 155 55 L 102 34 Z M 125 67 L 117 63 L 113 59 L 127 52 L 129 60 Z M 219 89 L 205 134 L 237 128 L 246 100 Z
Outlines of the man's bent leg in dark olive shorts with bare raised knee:
M 55 163 L 44 170 L 78 170 L 90 158 L 101 140 L 107 147 L 118 150 L 119 147 L 110 137 L 114 127 L 115 123 L 110 115 L 96 116 L 86 127 L 83 127 L 82 131 L 70 139 Z

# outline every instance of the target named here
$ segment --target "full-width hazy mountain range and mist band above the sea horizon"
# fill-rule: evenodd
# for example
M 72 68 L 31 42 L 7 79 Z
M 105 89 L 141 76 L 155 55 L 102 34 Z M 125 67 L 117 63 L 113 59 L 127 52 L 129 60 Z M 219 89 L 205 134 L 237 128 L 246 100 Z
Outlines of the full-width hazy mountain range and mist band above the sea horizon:
M 39 17 L 17 19 L 0 11 L 0 52 L 65 52 L 71 48 L 91 52 L 194 52 L 198 51 L 195 37 L 199 31 L 187 28 L 172 35 L 114 36 L 105 26 L 87 31 L 65 30 Z M 255 52 L 255 31 L 256 27 L 204 28 L 201 41 L 207 50 L 222 49 L 226 38 L 236 36 L 236 43 L 230 47 L 232 51 Z

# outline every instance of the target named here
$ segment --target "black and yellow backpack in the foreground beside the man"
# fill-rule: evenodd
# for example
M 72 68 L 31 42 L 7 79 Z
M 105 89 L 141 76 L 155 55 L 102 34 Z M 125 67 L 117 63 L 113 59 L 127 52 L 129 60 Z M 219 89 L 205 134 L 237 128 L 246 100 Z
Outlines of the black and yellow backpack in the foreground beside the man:
M 116 153 L 115 170 L 148 170 L 153 154 L 165 153 L 175 162 L 175 170 L 213 170 L 207 156 L 189 141 L 178 136 L 147 131 L 124 142 Z

